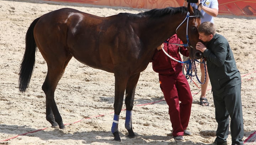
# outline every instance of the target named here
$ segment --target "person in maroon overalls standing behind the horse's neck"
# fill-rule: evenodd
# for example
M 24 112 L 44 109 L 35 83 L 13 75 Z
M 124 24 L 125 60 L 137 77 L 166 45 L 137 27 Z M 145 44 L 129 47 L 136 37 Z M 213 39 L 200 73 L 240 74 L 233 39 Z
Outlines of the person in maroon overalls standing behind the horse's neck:
M 180 44 L 177 35 L 167 39 L 169 43 Z M 159 73 L 160 88 L 169 106 L 172 135 L 175 140 L 184 140 L 183 135 L 191 135 L 186 130 L 190 119 L 192 94 L 186 77 L 182 73 L 182 63 L 172 60 L 164 50 L 176 60 L 182 61 L 179 52 L 188 56 L 188 50 L 183 46 L 164 43 L 159 46 L 152 58 L 153 70 Z

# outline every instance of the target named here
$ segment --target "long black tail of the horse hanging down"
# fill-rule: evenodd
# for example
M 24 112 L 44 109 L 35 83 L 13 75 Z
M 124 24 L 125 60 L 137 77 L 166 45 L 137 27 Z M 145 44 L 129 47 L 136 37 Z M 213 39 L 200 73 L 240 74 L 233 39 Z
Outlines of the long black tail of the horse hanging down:
M 39 17 L 40 18 L 40 17 Z M 28 84 L 30 83 L 30 79 L 32 76 L 32 72 L 34 69 L 35 63 L 35 55 L 37 50 L 36 41 L 34 40 L 34 27 L 39 20 L 39 18 L 35 19 L 26 33 L 26 48 L 25 53 L 21 62 L 20 67 L 20 78 L 19 78 L 19 89 L 20 91 L 26 91 Z

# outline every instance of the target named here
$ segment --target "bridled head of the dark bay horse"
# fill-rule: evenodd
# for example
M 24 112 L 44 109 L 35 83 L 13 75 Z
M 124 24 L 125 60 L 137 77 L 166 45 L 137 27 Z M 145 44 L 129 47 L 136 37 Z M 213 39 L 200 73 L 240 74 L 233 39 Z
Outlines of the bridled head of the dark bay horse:
M 196 50 L 196 44 L 200 41 L 197 28 L 201 24 L 202 6 L 199 4 L 198 9 L 195 9 L 188 3 L 187 9 L 187 16 L 176 29 L 176 33 L 184 44 L 187 43 L 187 49 L 190 54 L 189 57 L 191 59 L 200 59 L 203 55 L 201 51 Z

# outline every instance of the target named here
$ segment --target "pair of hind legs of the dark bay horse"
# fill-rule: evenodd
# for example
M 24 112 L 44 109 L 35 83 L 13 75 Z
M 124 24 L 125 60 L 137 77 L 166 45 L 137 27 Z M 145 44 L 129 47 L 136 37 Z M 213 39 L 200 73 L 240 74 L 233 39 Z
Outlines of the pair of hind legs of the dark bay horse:
M 54 92 L 71 58 L 72 56 L 68 56 L 63 61 L 48 61 L 47 76 L 42 85 L 42 89 L 46 94 L 46 120 L 52 124 L 52 127 L 59 126 L 60 129 L 64 129 L 65 126 L 54 100 Z

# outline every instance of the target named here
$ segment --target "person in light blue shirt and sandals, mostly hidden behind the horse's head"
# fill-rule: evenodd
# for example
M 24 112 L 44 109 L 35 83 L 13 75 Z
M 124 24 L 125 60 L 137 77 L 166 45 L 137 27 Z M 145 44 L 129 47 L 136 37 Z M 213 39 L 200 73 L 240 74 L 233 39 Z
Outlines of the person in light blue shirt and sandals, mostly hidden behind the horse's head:
M 200 3 L 202 4 L 201 12 L 203 14 L 203 18 L 201 18 L 201 23 L 206 21 L 210 21 L 211 23 L 214 23 L 214 17 L 217 17 L 219 12 L 218 0 L 198 0 L 197 3 L 191 3 L 191 6 L 197 8 Z M 184 6 L 187 6 L 187 4 L 188 2 L 185 0 Z M 200 63 L 200 69 L 202 73 L 200 81 L 204 82 L 205 71 L 204 71 L 203 63 Z M 206 81 L 204 84 L 201 85 L 201 96 L 199 99 L 200 105 L 202 106 L 209 106 L 209 102 L 206 97 L 208 84 L 209 84 L 209 75 L 208 75 L 207 66 L 206 66 Z

